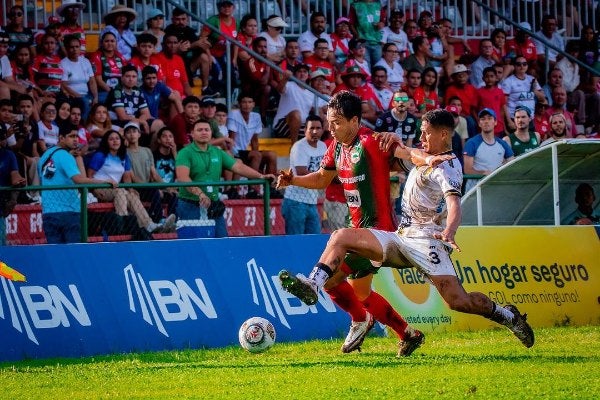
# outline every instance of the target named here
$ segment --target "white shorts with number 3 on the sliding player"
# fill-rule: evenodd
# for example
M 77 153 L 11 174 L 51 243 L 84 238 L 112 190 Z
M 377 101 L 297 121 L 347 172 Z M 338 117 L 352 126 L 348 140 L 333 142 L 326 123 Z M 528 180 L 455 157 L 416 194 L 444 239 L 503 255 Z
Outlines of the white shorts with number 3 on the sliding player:
M 396 232 L 369 229 L 383 248 L 383 264 L 392 268 L 417 268 L 425 276 L 456 276 L 450 250 L 432 238 L 404 237 Z

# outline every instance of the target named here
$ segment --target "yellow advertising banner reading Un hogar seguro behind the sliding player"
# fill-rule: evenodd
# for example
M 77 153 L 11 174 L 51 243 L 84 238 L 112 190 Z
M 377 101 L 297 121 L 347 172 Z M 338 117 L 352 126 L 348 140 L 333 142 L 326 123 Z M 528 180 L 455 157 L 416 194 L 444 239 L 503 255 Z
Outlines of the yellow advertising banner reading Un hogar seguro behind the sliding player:
M 514 304 L 533 327 L 600 324 L 600 240 L 593 226 L 461 227 L 452 260 L 468 292 Z M 415 268 L 381 268 L 374 287 L 419 329 L 486 329 L 450 310 Z

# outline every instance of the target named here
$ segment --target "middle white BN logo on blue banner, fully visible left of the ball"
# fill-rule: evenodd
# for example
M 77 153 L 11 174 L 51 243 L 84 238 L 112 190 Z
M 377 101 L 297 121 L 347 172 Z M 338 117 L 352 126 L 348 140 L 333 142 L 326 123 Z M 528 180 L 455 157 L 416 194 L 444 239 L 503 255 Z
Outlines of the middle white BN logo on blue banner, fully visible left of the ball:
M 169 333 L 165 328 L 166 322 L 181 322 L 198 319 L 196 309 L 206 318 L 217 318 L 217 311 L 213 306 L 204 282 L 200 278 L 194 280 L 194 285 L 188 284 L 183 279 L 146 281 L 142 274 L 133 269 L 129 264 L 123 268 L 129 310 L 142 314 L 142 318 L 149 325 L 166 337 Z M 136 306 L 137 304 L 137 306 Z

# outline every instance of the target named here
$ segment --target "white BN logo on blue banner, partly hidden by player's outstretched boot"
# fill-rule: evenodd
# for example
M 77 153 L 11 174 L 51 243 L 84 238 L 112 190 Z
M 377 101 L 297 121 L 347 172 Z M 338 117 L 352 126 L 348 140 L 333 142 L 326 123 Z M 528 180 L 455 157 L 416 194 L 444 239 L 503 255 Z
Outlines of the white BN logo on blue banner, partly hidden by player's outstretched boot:
M 286 316 L 303 315 L 318 312 L 317 306 L 307 306 L 298 300 L 294 295 L 286 292 L 279 283 L 277 275 L 268 276 L 263 267 L 258 266 L 254 258 L 246 263 L 248 270 L 248 280 L 252 291 L 252 302 L 257 306 L 264 307 L 265 312 L 288 329 L 292 329 Z M 337 312 L 335 305 L 329 295 L 319 291 L 319 302 L 326 312 Z

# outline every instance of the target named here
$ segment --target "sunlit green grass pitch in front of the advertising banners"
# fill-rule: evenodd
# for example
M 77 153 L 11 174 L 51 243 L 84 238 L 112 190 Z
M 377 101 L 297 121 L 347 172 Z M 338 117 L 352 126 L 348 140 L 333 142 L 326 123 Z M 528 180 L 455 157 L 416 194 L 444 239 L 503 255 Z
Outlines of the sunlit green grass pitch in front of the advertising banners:
M 6 340 L 7 338 L 5 338 Z M 600 399 L 600 327 L 432 333 L 411 357 L 369 337 L 0 364 L 0 399 Z

